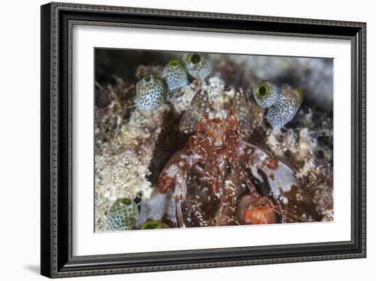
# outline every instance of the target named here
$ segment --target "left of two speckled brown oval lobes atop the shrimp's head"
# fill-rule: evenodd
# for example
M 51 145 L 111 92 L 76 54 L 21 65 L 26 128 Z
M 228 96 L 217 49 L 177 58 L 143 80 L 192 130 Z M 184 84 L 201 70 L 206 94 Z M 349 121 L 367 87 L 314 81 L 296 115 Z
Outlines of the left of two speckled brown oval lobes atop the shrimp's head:
M 205 90 L 199 90 L 193 96 L 191 104 L 183 113 L 180 119 L 179 129 L 183 133 L 189 134 L 196 131 L 197 125 L 206 111 L 209 104 L 209 96 Z

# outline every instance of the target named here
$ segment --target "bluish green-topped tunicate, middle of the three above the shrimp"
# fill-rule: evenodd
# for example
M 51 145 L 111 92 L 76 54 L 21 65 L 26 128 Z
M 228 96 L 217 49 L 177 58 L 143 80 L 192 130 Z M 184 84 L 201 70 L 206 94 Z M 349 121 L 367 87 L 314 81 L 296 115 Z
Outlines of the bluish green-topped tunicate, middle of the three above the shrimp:
M 185 72 L 183 64 L 177 59 L 173 59 L 166 64 L 163 69 L 162 78 L 165 80 L 170 91 L 182 88 L 188 83 L 187 72 Z

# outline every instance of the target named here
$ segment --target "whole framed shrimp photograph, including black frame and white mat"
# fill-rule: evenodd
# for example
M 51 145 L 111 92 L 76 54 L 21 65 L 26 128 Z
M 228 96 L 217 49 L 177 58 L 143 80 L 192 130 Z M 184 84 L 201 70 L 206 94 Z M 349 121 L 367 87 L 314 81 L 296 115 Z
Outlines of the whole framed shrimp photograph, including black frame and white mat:
M 366 257 L 366 23 L 41 16 L 42 275 Z

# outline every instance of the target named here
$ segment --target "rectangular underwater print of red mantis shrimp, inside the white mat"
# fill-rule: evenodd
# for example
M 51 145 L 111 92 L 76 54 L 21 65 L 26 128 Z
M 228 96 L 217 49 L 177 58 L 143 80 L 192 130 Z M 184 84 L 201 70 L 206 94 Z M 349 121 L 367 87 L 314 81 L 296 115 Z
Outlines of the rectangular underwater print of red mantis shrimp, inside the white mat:
M 332 58 L 94 59 L 96 232 L 334 220 Z

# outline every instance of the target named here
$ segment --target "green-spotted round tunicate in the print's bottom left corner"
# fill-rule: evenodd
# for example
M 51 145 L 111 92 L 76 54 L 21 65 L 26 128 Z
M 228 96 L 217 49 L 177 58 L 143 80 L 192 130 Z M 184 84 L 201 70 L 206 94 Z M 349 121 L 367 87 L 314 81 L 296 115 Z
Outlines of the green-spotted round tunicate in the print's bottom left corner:
M 135 202 L 129 198 L 120 198 L 109 209 L 109 230 L 131 230 L 135 228 L 138 209 Z

